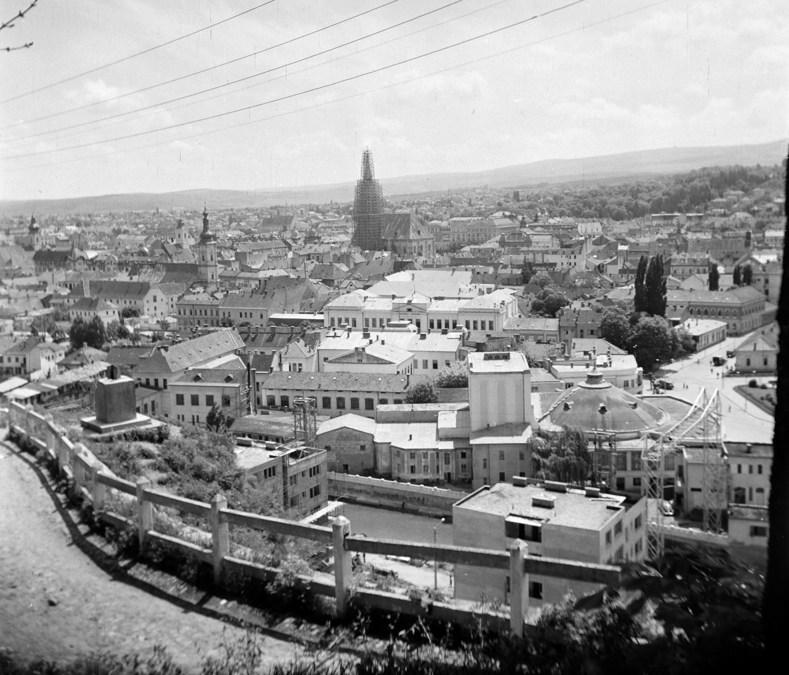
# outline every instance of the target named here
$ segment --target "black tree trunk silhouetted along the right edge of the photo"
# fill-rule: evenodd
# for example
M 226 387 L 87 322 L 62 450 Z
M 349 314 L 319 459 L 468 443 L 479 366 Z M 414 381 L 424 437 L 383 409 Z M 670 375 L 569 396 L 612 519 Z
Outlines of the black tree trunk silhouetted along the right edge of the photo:
M 786 165 L 783 178 L 787 181 L 789 192 Z M 783 214 L 784 217 L 787 214 L 785 204 Z M 770 534 L 765 598 L 762 605 L 768 662 L 772 663 L 783 661 L 786 654 L 786 630 L 789 626 L 789 259 L 786 225 L 784 228 L 783 278 L 778 302 L 780 337 L 776 423 L 772 436 L 770 475 Z

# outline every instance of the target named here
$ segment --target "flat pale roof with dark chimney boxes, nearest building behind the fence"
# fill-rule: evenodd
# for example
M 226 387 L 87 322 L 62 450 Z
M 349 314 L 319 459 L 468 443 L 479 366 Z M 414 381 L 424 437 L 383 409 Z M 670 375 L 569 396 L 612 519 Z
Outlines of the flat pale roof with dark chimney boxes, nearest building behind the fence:
M 566 491 L 547 489 L 549 485 L 536 481 L 525 486 L 496 483 L 470 494 L 457 502 L 453 509 L 480 511 L 502 518 L 522 517 L 533 520 L 534 524 L 600 531 L 635 503 L 622 494 L 587 496 L 585 490 L 567 487 L 566 483 L 556 484 Z M 547 499 L 552 505 L 535 505 L 534 498 L 538 503 L 540 498 Z

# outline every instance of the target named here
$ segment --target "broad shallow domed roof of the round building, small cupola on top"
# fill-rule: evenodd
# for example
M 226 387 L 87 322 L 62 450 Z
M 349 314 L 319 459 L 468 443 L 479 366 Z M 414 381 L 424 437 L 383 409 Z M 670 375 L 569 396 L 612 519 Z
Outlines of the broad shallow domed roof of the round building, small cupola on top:
M 660 427 L 667 413 L 603 379 L 596 369 L 557 399 L 540 419 L 544 426 L 638 434 Z M 545 424 L 547 423 L 547 424 Z

